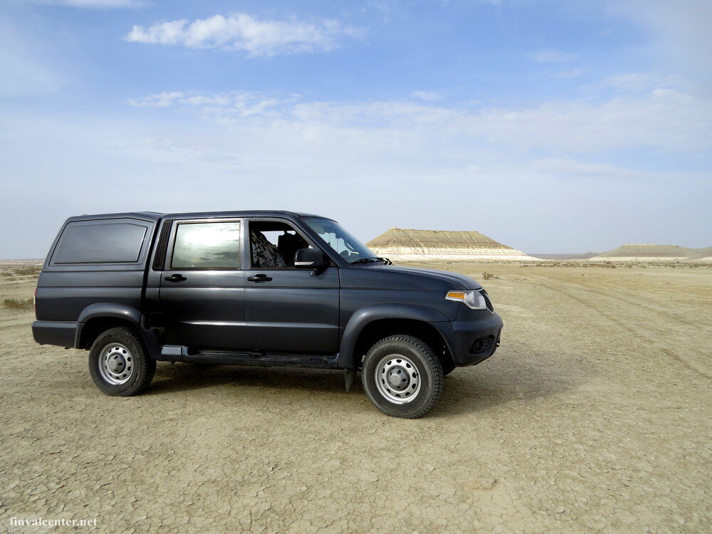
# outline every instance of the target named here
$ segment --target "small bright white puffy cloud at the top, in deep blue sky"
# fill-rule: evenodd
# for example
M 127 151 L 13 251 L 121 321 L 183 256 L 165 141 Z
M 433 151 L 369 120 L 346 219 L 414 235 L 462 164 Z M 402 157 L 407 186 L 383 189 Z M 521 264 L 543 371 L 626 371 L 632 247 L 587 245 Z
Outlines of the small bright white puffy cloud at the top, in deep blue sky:
M 192 22 L 186 19 L 160 22 L 147 28 L 134 26 L 125 39 L 135 43 L 244 51 L 248 56 L 275 56 L 329 51 L 339 46 L 340 39 L 357 36 L 360 31 L 337 21 L 266 21 L 236 13 Z

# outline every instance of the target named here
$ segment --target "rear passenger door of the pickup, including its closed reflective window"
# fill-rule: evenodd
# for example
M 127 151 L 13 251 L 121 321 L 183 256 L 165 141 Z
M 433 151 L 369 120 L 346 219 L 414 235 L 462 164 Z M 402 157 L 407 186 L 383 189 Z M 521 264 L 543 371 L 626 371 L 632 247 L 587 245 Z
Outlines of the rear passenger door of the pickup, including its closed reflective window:
M 241 228 L 241 219 L 173 221 L 159 290 L 167 340 L 246 348 Z

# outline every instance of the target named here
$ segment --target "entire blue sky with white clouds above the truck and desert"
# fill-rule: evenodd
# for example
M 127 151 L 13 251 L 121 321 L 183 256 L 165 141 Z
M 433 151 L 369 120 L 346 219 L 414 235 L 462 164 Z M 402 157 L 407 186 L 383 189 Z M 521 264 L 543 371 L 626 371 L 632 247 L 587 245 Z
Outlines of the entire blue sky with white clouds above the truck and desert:
M 707 0 L 4 0 L 0 258 L 68 216 L 712 245 Z

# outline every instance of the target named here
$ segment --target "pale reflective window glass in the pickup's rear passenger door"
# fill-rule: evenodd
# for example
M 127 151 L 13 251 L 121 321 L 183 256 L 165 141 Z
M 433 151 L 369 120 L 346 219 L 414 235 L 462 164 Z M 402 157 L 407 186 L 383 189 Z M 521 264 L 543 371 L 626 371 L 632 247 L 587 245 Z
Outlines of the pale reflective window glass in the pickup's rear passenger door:
M 239 269 L 240 223 L 179 224 L 171 267 L 204 271 Z

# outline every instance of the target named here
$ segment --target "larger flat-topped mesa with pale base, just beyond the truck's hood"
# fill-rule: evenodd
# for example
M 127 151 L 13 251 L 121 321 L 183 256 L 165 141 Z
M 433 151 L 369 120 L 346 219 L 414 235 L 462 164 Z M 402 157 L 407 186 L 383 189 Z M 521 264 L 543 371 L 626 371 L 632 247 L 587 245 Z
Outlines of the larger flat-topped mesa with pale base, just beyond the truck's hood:
M 517 260 L 539 261 L 477 231 L 392 228 L 367 243 L 379 256 L 407 260 Z

